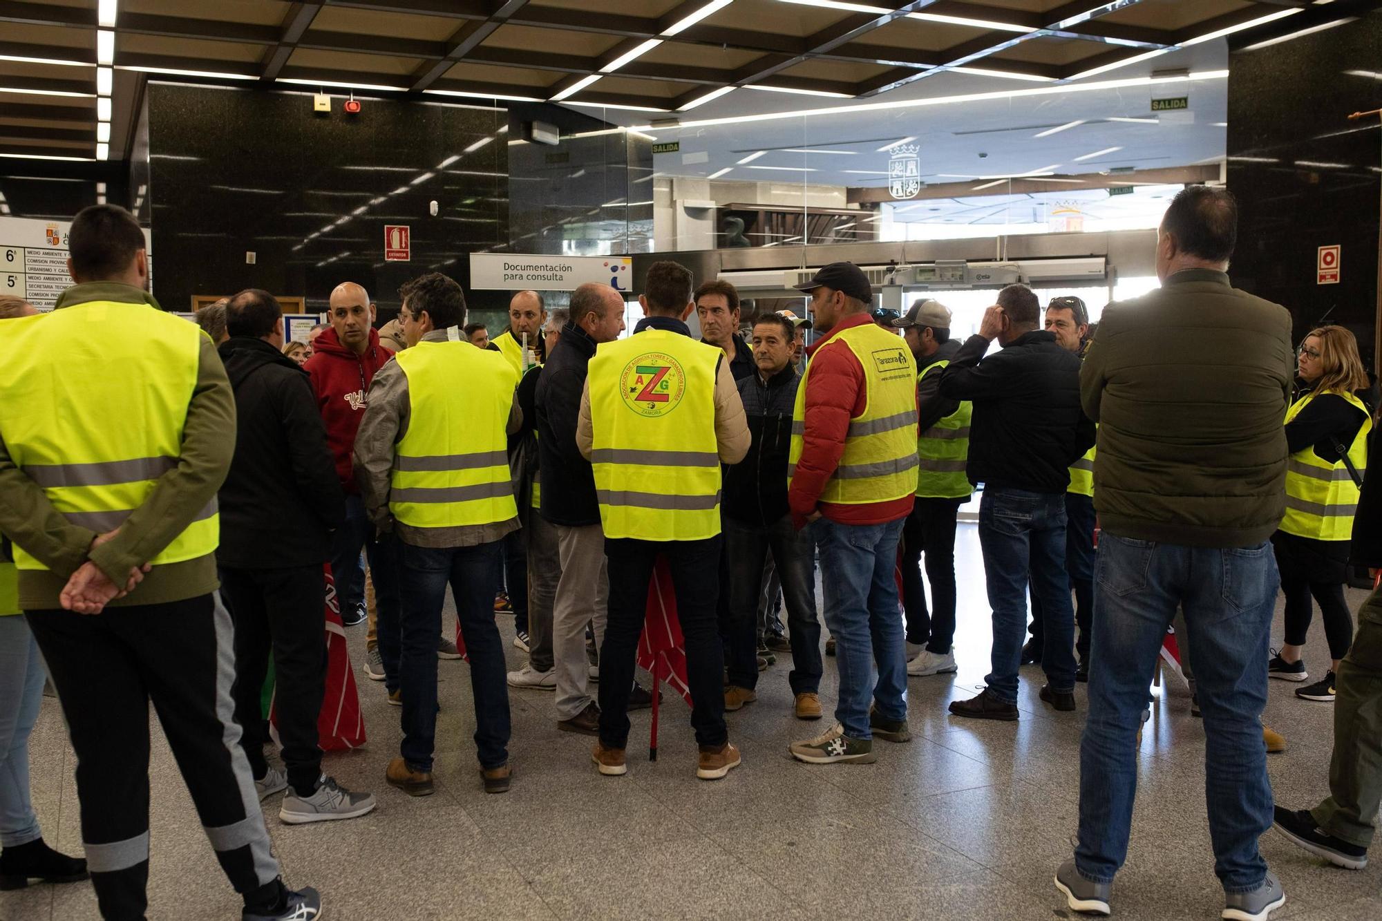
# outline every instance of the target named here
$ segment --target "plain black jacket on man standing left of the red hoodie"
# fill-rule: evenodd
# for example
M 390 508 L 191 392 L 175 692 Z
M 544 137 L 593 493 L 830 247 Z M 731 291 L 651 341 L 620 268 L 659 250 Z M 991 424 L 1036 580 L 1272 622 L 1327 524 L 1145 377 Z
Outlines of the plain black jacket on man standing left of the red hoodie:
M 220 353 L 236 412 L 216 561 L 246 570 L 322 564 L 330 530 L 346 520 L 346 495 L 307 372 L 263 339 L 236 336 Z

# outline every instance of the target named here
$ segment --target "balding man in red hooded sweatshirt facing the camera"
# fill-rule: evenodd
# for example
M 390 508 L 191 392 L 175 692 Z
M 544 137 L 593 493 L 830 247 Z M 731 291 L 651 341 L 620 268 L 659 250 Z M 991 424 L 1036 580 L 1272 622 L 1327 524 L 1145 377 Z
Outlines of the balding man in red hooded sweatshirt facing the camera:
M 336 463 L 336 476 L 346 490 L 346 523 L 332 537 L 332 575 L 340 600 L 341 621 L 350 626 L 365 620 L 365 574 L 359 552 L 369 557 L 380 621 L 377 650 L 390 693 L 398 690 L 398 581 L 394 575 L 395 550 L 391 539 L 376 539 L 375 527 L 365 514 L 365 503 L 355 485 L 351 452 L 355 431 L 365 418 L 365 394 L 377 372 L 392 353 L 379 344 L 370 325 L 375 306 L 369 293 L 355 282 L 341 282 L 332 292 L 329 318 L 332 328 L 322 331 L 315 353 L 303 368 L 312 379 L 316 405 L 326 422 L 326 445 Z M 390 651 L 392 653 L 390 655 Z

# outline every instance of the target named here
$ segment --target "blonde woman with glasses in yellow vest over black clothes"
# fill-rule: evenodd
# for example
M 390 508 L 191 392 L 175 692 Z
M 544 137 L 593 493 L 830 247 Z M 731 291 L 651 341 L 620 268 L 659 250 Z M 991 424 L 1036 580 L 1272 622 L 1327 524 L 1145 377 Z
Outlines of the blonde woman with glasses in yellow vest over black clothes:
M 1359 343 L 1343 326 L 1312 329 L 1300 344 L 1298 369 L 1305 390 L 1287 411 L 1287 514 L 1271 537 L 1287 600 L 1287 642 L 1267 664 L 1267 673 L 1291 682 L 1309 678 L 1300 653 L 1313 596 L 1332 662 L 1321 680 L 1302 687 L 1296 697 L 1329 703 L 1334 673 L 1353 642 L 1343 584 L 1359 484 L 1368 466 L 1372 408 L 1361 398 L 1370 384 Z

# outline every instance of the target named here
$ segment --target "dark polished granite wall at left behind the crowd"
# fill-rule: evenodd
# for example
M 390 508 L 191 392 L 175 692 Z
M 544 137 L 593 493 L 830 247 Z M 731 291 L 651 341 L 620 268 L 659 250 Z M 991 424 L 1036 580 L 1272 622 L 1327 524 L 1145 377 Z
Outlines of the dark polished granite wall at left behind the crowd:
M 347 115 L 344 101 L 337 91 L 314 113 L 310 93 L 149 83 L 146 206 L 166 308 L 264 288 L 325 310 L 354 281 L 387 315 L 399 285 L 434 270 L 477 310 L 507 303 L 468 288 L 468 253 L 509 242 L 507 112 L 362 100 Z M 386 261 L 386 224 L 410 228 L 410 261 Z

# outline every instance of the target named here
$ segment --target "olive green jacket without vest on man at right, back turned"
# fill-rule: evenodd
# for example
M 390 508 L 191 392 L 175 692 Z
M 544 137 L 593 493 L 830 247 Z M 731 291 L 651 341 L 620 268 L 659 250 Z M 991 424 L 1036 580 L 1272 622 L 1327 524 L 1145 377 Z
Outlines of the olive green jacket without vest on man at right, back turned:
M 1219 271 L 1108 304 L 1079 373 L 1095 510 L 1118 537 L 1262 543 L 1285 513 L 1291 314 Z

